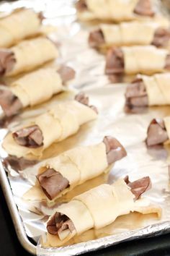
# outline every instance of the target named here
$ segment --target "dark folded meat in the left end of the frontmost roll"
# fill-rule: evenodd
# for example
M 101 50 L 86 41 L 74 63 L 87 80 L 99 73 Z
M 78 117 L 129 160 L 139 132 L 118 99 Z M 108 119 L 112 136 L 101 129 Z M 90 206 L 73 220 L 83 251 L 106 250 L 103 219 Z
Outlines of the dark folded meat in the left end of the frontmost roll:
M 71 232 L 75 230 L 73 222 L 66 216 L 61 215 L 61 213 L 55 213 L 48 221 L 47 224 L 48 233 L 58 234 L 61 231 L 69 229 Z

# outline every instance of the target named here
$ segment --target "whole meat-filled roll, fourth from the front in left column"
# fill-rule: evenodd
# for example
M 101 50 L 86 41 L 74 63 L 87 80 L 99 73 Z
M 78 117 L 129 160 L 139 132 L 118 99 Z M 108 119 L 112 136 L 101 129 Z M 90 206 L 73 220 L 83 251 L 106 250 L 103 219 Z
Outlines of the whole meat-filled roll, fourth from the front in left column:
M 0 106 L 5 116 L 14 116 L 27 106 L 48 101 L 64 90 L 64 83 L 73 79 L 74 74 L 70 67 L 42 68 L 15 80 L 10 88 L 1 88 Z

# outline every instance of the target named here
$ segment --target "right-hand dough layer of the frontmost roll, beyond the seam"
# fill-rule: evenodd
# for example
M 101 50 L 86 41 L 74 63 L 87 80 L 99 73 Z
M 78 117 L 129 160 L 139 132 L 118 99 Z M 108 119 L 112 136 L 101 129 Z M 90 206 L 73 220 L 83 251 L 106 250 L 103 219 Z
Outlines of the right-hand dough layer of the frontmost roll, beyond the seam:
M 115 184 L 103 184 L 77 197 L 89 209 L 94 220 L 94 229 L 109 225 L 123 214 L 133 211 L 134 196 L 123 179 Z

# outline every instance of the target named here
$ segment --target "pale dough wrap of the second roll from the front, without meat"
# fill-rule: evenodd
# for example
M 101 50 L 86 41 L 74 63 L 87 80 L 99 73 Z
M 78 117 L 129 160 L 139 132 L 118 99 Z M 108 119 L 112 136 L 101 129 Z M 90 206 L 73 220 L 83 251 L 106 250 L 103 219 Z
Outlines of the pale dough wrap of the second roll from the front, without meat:
M 40 167 L 40 173 L 48 168 L 53 168 L 68 179 L 69 187 L 55 197 L 55 201 L 56 198 L 65 195 L 77 185 L 104 173 L 107 166 L 106 146 L 102 142 L 98 145 L 76 147 L 55 158 L 50 158 Z

